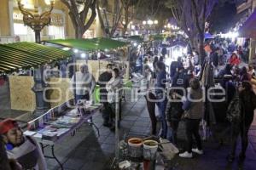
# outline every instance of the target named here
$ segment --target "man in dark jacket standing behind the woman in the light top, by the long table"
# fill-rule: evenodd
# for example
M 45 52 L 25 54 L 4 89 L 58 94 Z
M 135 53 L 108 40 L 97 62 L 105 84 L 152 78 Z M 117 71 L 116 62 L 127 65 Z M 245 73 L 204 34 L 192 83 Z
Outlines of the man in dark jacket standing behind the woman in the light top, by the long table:
M 98 80 L 98 84 L 100 86 L 100 99 L 101 103 L 103 104 L 104 108 L 102 111 L 102 116 L 104 119 L 103 126 L 110 127 L 110 119 L 113 116 L 113 111 L 108 104 L 108 91 L 106 89 L 106 84 L 112 78 L 112 65 L 107 65 L 107 71 L 104 71 Z

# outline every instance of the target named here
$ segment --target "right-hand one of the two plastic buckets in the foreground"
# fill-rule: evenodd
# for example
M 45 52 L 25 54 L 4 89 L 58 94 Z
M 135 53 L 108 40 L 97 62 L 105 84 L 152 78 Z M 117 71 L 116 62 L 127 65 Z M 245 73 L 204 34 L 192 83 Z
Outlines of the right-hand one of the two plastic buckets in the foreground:
M 158 142 L 145 140 L 143 143 L 143 157 L 145 160 L 154 160 L 158 149 Z

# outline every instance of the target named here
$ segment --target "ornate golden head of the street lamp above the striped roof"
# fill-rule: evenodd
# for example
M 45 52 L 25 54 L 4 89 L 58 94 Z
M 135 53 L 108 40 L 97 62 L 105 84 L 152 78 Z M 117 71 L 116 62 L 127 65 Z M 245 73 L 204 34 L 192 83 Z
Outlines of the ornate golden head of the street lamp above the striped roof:
M 41 41 L 40 32 L 43 30 L 44 26 L 49 26 L 50 24 L 50 14 L 54 8 L 54 0 L 49 0 L 50 8 L 42 14 L 38 13 L 38 6 L 35 5 L 34 13 L 30 12 L 24 5 L 21 4 L 21 0 L 17 0 L 18 6 L 21 13 L 23 14 L 23 22 L 25 26 L 29 26 L 35 31 L 36 42 Z

